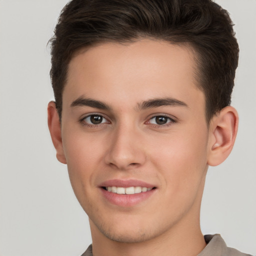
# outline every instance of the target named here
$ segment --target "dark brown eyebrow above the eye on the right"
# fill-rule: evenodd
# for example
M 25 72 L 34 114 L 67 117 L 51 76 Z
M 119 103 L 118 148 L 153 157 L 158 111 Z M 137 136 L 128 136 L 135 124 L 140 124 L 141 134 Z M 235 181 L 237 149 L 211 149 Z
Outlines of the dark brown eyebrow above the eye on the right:
M 149 100 L 142 101 L 141 103 L 137 104 L 138 110 L 143 110 L 147 108 L 154 108 L 159 106 L 186 106 L 188 105 L 175 98 L 165 97 L 165 98 L 153 98 Z

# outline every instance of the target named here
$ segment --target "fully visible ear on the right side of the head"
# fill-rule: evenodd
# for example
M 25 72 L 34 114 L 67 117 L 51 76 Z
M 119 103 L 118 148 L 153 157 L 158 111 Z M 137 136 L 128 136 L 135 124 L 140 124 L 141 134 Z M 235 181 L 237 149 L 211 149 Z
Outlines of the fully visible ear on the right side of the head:
M 226 106 L 213 116 L 209 124 L 207 163 L 215 166 L 223 162 L 231 152 L 238 128 L 238 114 L 232 106 Z

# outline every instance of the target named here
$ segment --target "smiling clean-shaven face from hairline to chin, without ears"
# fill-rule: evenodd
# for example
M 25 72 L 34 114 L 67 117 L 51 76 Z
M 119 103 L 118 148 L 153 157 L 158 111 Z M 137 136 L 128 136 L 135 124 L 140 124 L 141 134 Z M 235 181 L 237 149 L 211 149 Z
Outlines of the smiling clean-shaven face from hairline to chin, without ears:
M 195 71 L 191 48 L 149 39 L 71 59 L 62 147 L 92 235 L 138 242 L 198 221 L 208 128 Z

